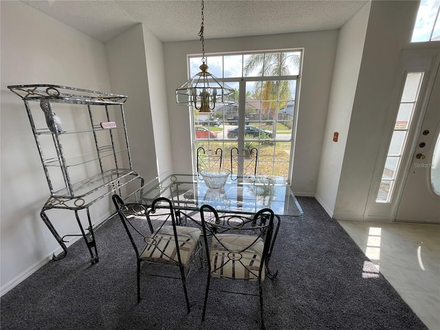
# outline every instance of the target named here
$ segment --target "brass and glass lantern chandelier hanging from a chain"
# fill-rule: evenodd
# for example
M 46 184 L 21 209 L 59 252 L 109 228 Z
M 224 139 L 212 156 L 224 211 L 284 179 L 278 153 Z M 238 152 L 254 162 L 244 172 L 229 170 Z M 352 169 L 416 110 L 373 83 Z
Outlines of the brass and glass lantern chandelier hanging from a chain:
M 184 85 L 176 89 L 176 101 L 181 105 L 192 105 L 199 113 L 209 113 L 216 105 L 230 104 L 230 97 L 234 90 L 222 83 L 208 72 L 208 65 L 205 58 L 205 40 L 203 39 L 204 17 L 203 0 L 201 0 L 201 72 L 192 76 Z

